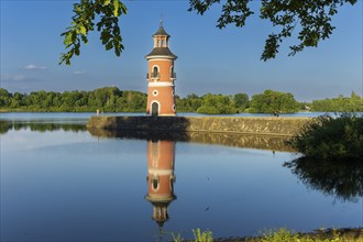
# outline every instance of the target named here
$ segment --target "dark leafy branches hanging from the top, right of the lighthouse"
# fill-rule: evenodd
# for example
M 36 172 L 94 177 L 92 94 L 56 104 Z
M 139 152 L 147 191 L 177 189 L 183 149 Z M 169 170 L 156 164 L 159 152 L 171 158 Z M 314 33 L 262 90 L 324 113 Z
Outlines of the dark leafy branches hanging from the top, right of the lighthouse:
M 227 0 L 222 6 L 222 14 L 217 26 L 226 28 L 234 24 L 242 28 L 245 20 L 254 14 L 249 8 L 252 0 Z M 188 11 L 204 14 L 212 4 L 220 0 L 189 0 Z M 305 47 L 317 47 L 322 40 L 329 38 L 334 30 L 331 16 L 338 13 L 338 6 L 354 4 L 356 0 L 262 0 L 260 18 L 270 20 L 274 26 L 280 29 L 279 33 L 271 33 L 265 42 L 261 59 L 266 62 L 275 58 L 279 44 L 293 35 L 296 26 L 299 29 L 298 43 L 289 46 L 288 56 L 294 56 Z

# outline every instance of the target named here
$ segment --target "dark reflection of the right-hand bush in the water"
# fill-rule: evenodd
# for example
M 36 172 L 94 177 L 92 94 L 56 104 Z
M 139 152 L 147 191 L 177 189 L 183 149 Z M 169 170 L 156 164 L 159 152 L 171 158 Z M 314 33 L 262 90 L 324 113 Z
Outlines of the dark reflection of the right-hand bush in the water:
M 317 161 L 300 157 L 284 164 L 306 186 L 343 201 L 363 196 L 363 164 L 356 161 Z

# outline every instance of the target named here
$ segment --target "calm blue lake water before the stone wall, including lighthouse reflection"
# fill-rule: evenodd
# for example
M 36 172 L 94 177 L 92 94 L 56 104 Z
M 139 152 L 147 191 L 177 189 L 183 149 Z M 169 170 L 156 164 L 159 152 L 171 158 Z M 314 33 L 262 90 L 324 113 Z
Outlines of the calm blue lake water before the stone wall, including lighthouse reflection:
M 89 116 L 1 114 L 18 120 L 1 123 L 1 241 L 362 227 L 362 180 L 340 193 L 284 166 L 297 157 L 288 152 L 95 135 L 82 125 Z

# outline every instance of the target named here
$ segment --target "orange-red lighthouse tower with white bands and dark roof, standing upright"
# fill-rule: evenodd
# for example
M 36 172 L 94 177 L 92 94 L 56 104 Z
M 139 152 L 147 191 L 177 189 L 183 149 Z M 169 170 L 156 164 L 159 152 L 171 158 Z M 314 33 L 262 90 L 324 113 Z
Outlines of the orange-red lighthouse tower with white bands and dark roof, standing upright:
M 153 35 L 154 48 L 145 56 L 148 61 L 146 114 L 176 114 L 174 61 L 177 56 L 169 50 L 169 37 L 161 21 L 158 30 Z

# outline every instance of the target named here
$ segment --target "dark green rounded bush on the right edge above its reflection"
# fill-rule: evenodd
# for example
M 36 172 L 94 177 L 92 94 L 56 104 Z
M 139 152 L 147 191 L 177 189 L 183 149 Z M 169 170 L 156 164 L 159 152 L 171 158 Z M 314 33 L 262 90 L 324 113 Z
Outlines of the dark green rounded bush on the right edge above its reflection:
M 362 161 L 363 117 L 318 117 L 287 144 L 309 158 Z

